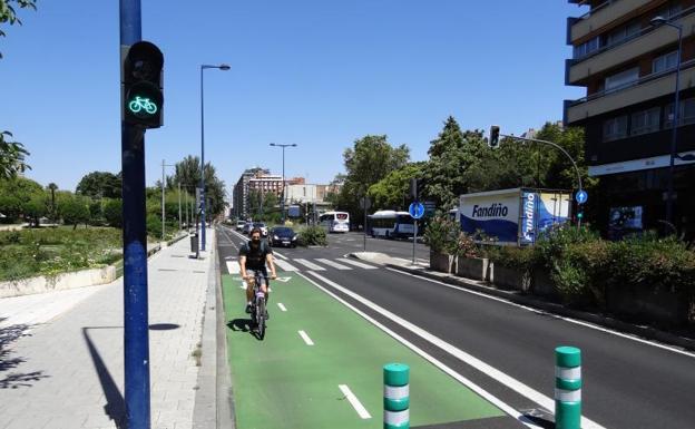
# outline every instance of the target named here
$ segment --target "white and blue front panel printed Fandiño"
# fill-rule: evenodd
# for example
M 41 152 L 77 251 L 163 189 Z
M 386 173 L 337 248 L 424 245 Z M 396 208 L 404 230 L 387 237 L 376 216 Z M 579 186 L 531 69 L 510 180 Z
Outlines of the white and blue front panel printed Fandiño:
M 481 231 L 500 244 L 518 242 L 519 189 L 461 195 L 459 211 L 463 232 Z

